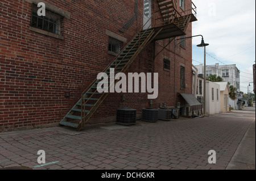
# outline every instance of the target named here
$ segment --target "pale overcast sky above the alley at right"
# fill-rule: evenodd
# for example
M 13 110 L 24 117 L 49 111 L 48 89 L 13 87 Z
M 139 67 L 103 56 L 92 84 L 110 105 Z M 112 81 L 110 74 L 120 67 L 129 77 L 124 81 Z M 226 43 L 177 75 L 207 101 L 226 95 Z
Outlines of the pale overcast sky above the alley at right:
M 192 34 L 203 35 L 207 47 L 207 65 L 236 64 L 241 71 L 241 91 L 253 82 L 255 64 L 255 0 L 193 0 L 197 22 Z M 200 37 L 193 39 L 193 65 L 204 62 Z M 212 56 L 212 57 L 211 57 Z M 214 58 L 213 58 L 214 57 Z M 217 60 L 216 60 L 217 59 Z M 253 83 L 250 90 L 253 91 Z

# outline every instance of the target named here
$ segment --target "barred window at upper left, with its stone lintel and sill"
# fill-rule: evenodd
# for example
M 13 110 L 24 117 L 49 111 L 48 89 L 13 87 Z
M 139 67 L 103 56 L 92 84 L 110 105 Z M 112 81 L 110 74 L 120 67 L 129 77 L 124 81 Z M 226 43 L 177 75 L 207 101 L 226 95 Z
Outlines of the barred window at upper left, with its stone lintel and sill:
M 62 35 L 63 26 L 61 24 L 64 17 L 47 9 L 46 16 L 38 16 L 38 9 L 39 7 L 33 3 L 30 26 L 56 35 Z

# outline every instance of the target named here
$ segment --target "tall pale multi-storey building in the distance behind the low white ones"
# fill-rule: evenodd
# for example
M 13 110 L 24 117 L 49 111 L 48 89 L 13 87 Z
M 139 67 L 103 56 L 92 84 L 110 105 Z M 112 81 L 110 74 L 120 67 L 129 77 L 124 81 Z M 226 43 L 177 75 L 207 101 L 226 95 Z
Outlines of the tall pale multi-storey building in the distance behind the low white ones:
M 196 65 L 196 68 L 198 69 L 198 74 L 204 74 L 204 66 L 203 64 Z M 237 92 L 240 92 L 240 70 L 236 67 L 236 65 L 207 65 L 206 67 L 206 77 L 209 77 L 209 75 L 220 76 L 223 78 L 224 82 L 230 82 L 231 85 L 233 85 Z M 237 94 L 237 100 L 232 100 L 229 98 L 229 106 L 233 107 L 235 110 L 238 109 L 237 107 L 237 101 L 240 94 Z

